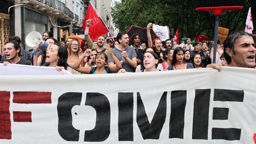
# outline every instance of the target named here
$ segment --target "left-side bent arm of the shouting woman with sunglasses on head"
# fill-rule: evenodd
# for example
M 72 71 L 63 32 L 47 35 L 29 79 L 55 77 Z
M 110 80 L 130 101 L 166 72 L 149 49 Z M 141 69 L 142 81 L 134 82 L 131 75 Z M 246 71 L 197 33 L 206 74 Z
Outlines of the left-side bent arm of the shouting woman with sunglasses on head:
M 80 58 L 74 63 L 73 68 L 75 70 L 79 71 L 80 73 L 89 74 L 91 67 L 80 67 L 80 64 L 85 59 L 85 57 L 88 57 L 90 55 L 90 52 L 91 52 L 90 49 L 86 49 L 84 54 L 81 55 Z

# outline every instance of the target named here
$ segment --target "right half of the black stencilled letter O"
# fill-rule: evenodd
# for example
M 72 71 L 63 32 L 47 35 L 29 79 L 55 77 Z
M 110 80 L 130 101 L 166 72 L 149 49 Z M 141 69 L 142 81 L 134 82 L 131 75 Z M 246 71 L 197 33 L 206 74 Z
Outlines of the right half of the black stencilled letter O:
M 104 141 L 110 134 L 110 103 L 101 93 L 88 92 L 85 105 L 96 110 L 96 125 L 92 130 L 85 131 L 84 141 Z M 88 115 L 89 116 L 89 115 Z

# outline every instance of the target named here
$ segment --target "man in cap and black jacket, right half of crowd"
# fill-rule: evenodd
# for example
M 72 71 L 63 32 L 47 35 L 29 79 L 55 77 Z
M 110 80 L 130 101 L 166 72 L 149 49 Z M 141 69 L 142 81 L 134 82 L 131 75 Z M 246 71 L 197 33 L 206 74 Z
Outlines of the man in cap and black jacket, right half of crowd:
M 191 53 L 191 57 L 193 57 L 194 54 L 200 54 L 202 59 L 202 67 L 206 67 L 208 64 L 211 64 L 211 59 L 207 55 L 204 50 L 202 50 L 202 43 L 200 41 L 197 41 L 193 44 L 194 50 Z M 193 59 L 192 59 L 193 60 Z

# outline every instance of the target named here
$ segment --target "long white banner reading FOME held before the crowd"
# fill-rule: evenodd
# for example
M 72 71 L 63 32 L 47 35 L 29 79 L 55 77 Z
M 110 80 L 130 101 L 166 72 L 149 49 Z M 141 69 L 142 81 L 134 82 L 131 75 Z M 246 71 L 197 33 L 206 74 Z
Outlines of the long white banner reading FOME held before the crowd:
M 255 86 L 234 67 L 0 75 L 0 144 L 253 144 Z

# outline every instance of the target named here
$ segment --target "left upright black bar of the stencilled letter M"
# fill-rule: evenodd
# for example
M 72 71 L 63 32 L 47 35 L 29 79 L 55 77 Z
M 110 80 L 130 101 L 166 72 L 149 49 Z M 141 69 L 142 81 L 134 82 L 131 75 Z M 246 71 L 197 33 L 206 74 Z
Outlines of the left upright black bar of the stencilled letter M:
M 134 93 L 118 93 L 118 140 L 133 141 Z

